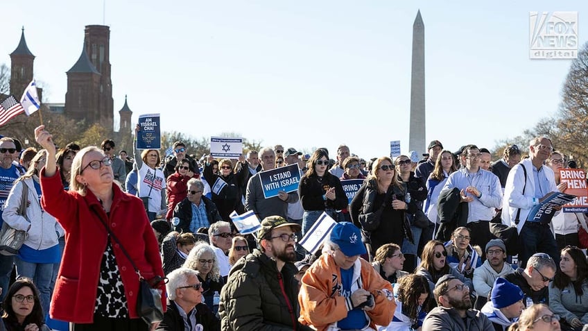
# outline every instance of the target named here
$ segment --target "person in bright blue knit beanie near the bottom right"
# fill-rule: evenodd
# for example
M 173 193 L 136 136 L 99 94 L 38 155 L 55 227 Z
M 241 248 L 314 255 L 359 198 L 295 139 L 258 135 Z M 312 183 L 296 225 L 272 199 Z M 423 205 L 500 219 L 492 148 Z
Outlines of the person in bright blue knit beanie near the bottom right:
M 505 331 L 521 316 L 525 295 L 520 287 L 502 277 L 494 281 L 491 295 L 491 301 L 482 307 L 481 312 L 490 319 L 494 331 Z

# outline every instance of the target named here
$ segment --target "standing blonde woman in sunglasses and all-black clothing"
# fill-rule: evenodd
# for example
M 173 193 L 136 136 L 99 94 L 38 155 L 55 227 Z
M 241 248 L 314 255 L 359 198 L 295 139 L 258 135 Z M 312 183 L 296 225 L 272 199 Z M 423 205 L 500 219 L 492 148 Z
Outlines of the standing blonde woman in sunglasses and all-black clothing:
M 413 242 L 406 212 L 414 213 L 417 203 L 406 199 L 394 162 L 388 156 L 374 161 L 372 174 L 365 180 L 349 207 L 353 223 L 361 228 L 370 257 L 383 244 L 402 245 L 406 237 Z M 371 246 L 371 247 L 370 247 Z

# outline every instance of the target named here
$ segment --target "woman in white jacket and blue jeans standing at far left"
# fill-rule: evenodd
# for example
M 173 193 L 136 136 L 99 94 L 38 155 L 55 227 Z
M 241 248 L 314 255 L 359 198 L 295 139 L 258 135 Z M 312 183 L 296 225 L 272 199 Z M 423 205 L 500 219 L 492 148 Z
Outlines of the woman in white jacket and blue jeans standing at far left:
M 58 239 L 65 232 L 55 217 L 41 207 L 39 173 L 45 166 L 47 151 L 42 149 L 31 160 L 26 173 L 15 181 L 6 199 L 2 217 L 16 230 L 24 230 L 27 237 L 15 258 L 18 278 L 31 278 L 40 291 L 43 314 L 49 313 L 53 264 L 61 260 Z M 24 194 L 26 193 L 26 196 Z M 25 216 L 19 214 L 22 199 L 26 199 Z

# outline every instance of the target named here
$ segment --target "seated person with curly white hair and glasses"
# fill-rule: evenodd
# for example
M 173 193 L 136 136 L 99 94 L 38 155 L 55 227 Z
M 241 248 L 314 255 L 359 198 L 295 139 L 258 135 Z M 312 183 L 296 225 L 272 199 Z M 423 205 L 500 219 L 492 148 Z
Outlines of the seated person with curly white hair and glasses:
M 206 305 L 216 314 L 218 307 L 214 306 L 214 292 L 220 294 L 225 284 L 220 277 L 220 267 L 214 249 L 205 242 L 196 244 L 188 254 L 183 267 L 200 272 L 198 280 L 202 282 L 202 289 L 204 289 L 202 297 Z

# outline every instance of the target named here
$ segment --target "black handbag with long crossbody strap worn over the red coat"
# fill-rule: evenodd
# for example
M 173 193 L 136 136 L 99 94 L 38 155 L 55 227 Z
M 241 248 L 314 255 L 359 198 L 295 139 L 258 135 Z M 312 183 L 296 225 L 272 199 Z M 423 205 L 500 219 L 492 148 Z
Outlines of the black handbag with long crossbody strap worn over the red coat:
M 145 278 L 143 278 L 141 272 L 139 272 L 139 269 L 137 268 L 137 266 L 135 266 L 135 262 L 132 262 L 132 259 L 128 255 L 126 249 L 123 247 L 123 244 L 121 244 L 121 241 L 119 241 L 119 238 L 117 238 L 114 235 L 114 233 L 112 233 L 110 228 L 108 228 L 108 226 L 101 219 L 100 215 L 96 212 L 96 210 L 93 211 L 96 213 L 96 215 L 98 215 L 98 219 L 100 219 L 100 222 L 106 228 L 108 234 L 110 234 L 110 237 L 114 239 L 116 244 L 119 244 L 121 251 L 123 251 L 124 255 L 129 260 L 130 264 L 132 265 L 132 268 L 135 269 L 135 273 L 139 275 L 137 315 L 139 315 L 139 317 L 141 317 L 141 319 L 145 321 L 145 323 L 147 323 L 148 325 L 163 321 L 164 309 L 162 307 L 162 294 L 159 291 L 159 289 L 154 288 L 157 285 L 159 285 L 159 282 L 162 282 L 163 278 L 161 278 L 160 276 L 156 276 L 152 280 L 146 280 Z

